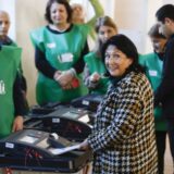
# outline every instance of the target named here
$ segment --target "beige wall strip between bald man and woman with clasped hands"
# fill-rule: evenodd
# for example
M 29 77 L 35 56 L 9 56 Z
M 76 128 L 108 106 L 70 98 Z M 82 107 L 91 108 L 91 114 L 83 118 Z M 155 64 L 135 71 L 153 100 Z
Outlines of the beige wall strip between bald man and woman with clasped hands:
M 34 63 L 34 47 L 29 39 L 33 28 L 45 25 L 45 8 L 47 0 L 16 0 L 16 41 L 23 47 L 23 70 L 27 79 L 27 98 L 35 104 L 35 85 L 37 71 Z

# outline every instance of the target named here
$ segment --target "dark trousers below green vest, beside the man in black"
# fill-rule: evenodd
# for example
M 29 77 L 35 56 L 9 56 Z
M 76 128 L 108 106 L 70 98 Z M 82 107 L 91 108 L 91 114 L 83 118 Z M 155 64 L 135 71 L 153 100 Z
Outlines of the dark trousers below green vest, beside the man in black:
M 158 170 L 159 170 L 159 174 L 163 174 L 166 132 L 157 130 L 156 138 L 157 138 L 157 150 L 158 150 Z

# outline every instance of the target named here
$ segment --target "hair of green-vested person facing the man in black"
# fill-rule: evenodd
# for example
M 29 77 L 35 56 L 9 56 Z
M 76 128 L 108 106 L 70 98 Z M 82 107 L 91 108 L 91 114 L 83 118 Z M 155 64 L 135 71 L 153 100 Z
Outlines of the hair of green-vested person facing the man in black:
M 149 29 L 148 35 L 149 35 L 150 37 L 166 39 L 166 37 L 159 32 L 159 28 L 160 28 L 160 24 L 158 24 L 158 23 L 154 24 L 154 25 Z

